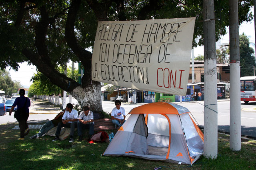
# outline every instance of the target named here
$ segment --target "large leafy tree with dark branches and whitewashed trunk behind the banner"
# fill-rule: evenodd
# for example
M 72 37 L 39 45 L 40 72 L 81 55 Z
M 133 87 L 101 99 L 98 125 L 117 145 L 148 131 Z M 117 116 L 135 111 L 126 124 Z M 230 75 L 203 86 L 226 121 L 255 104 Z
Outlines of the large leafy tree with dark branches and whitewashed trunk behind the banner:
M 252 5 L 252 0 L 239 1 L 239 23 L 252 20 Z M 228 1 L 215 0 L 215 9 L 218 40 L 229 23 Z M 91 79 L 92 53 L 86 49 L 93 47 L 98 20 L 196 16 L 194 38 L 203 42 L 202 0 L 0 0 L 0 16 L 0 67 L 18 70 L 18 63 L 28 61 L 93 110 L 102 109 L 100 83 Z M 82 84 L 58 72 L 68 60 L 84 66 Z

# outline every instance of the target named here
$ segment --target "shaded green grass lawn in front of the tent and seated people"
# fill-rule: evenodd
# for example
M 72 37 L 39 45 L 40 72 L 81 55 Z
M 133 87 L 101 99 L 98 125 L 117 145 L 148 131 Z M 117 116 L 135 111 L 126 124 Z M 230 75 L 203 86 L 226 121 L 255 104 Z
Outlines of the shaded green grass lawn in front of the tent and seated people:
M 229 149 L 229 136 L 218 135 L 218 157 L 209 160 L 202 156 L 192 166 L 152 161 L 126 156 L 101 156 L 108 143 L 89 144 L 78 142 L 75 135 L 74 143 L 64 141 L 52 142 L 54 137 L 45 136 L 40 139 L 29 139 L 39 129 L 30 129 L 25 141 L 18 141 L 19 130 L 12 130 L 18 123 L 0 125 L 0 168 L 2 169 L 146 169 L 155 167 L 162 169 L 256 169 L 256 141 L 242 139 L 242 149 L 232 152 Z M 110 133 L 110 131 L 106 131 Z M 115 131 L 114 131 L 115 133 Z M 75 132 L 75 134 L 77 134 Z

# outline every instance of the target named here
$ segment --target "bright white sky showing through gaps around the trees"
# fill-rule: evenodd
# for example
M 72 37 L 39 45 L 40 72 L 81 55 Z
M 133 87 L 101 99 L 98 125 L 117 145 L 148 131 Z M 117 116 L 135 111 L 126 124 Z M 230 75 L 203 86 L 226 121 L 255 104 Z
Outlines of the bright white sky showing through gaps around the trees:
M 251 11 L 253 12 L 253 8 L 251 9 Z M 248 22 L 248 23 L 242 23 L 239 27 L 239 35 L 242 33 L 247 35 L 247 37 L 251 42 L 250 47 L 252 47 L 255 51 L 254 21 Z M 229 43 L 228 29 L 227 29 L 227 34 L 222 36 L 221 39 L 218 42 L 216 42 L 216 49 L 218 49 L 220 45 L 222 45 L 223 43 Z M 194 57 L 197 57 L 198 55 L 204 55 L 203 46 L 194 48 Z M 26 62 L 20 63 L 19 65 L 20 65 L 20 68 L 18 72 L 15 72 L 13 69 L 10 69 L 10 67 L 7 67 L 6 70 L 10 72 L 10 75 L 13 81 L 18 80 L 21 82 L 24 88 L 29 88 L 29 86 L 32 84 L 30 79 L 36 73 L 36 66 L 32 66 L 32 65 L 28 66 Z M 68 64 L 68 66 L 69 65 L 70 64 Z M 75 67 L 78 68 L 78 63 L 75 63 Z

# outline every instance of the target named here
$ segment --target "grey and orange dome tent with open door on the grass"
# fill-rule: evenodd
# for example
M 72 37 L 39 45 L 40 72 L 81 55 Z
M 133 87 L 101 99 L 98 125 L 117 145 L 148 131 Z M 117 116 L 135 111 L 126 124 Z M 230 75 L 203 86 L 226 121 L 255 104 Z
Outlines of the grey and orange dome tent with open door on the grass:
M 203 154 L 204 137 L 189 113 L 166 102 L 135 107 L 103 155 L 193 164 Z

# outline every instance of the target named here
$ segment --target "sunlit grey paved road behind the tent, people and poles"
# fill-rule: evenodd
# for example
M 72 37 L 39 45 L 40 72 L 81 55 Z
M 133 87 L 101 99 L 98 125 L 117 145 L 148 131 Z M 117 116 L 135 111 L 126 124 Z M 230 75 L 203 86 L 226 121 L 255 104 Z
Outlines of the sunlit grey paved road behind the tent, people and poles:
M 73 103 L 73 101 L 72 101 Z M 181 106 L 187 107 L 192 115 L 195 117 L 196 121 L 199 125 L 203 127 L 204 125 L 204 102 L 190 102 L 190 103 L 176 103 Z M 126 114 L 134 107 L 141 106 L 143 104 L 124 104 L 122 103 L 122 107 L 126 110 Z M 110 113 L 112 109 L 115 107 L 114 102 L 110 101 L 102 101 L 103 110 L 107 113 Z M 241 102 L 241 108 L 252 108 L 256 107 L 256 102 L 252 102 L 249 104 L 244 104 Z M 222 101 L 218 102 L 218 130 L 229 133 L 230 128 L 230 102 L 229 101 Z M 58 111 L 56 111 L 58 113 Z M 31 114 L 29 116 L 29 121 L 40 121 L 46 119 L 53 119 L 56 116 L 54 114 Z M 128 116 L 127 116 L 128 117 Z M 7 123 L 7 122 L 14 122 L 13 115 L 8 116 L 6 115 L 0 116 L 0 124 Z M 256 111 L 241 111 L 241 133 L 243 136 L 249 136 L 256 139 Z

